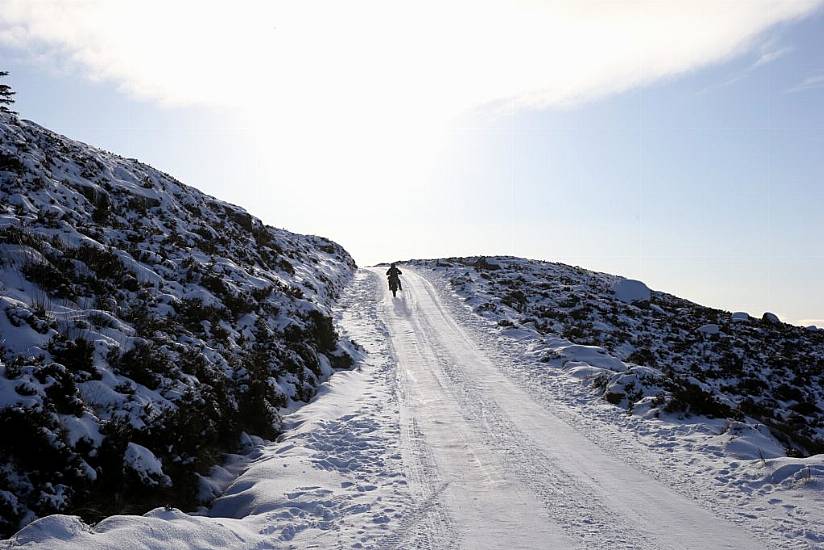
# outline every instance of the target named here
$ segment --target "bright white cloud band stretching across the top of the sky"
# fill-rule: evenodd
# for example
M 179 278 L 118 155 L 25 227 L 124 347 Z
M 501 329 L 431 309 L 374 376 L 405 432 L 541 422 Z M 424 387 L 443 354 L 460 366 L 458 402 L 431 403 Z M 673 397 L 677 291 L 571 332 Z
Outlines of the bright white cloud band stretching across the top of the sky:
M 163 102 L 452 113 L 648 84 L 739 53 L 819 4 L 2 0 L 0 41 Z

